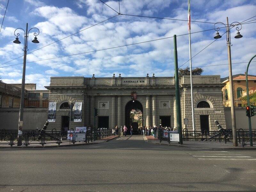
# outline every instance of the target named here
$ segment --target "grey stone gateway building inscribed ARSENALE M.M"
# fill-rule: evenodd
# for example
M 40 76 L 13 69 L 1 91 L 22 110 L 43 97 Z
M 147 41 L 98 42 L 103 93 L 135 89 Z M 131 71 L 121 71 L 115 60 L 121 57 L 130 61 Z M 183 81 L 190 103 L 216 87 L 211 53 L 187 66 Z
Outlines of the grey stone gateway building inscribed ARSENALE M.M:
M 193 84 L 196 130 L 216 130 L 214 120 L 226 128 L 220 76 L 193 76 Z M 174 77 L 51 77 L 45 88 L 50 90 L 49 102 L 57 102 L 56 121 L 49 123 L 49 129 L 130 126 L 132 109 L 141 110 L 143 126 L 161 122 L 177 127 Z M 82 122 L 74 122 L 75 102 L 82 102 Z M 182 119 L 188 118 L 187 128 L 192 130 L 189 76 L 180 78 L 180 104 Z

